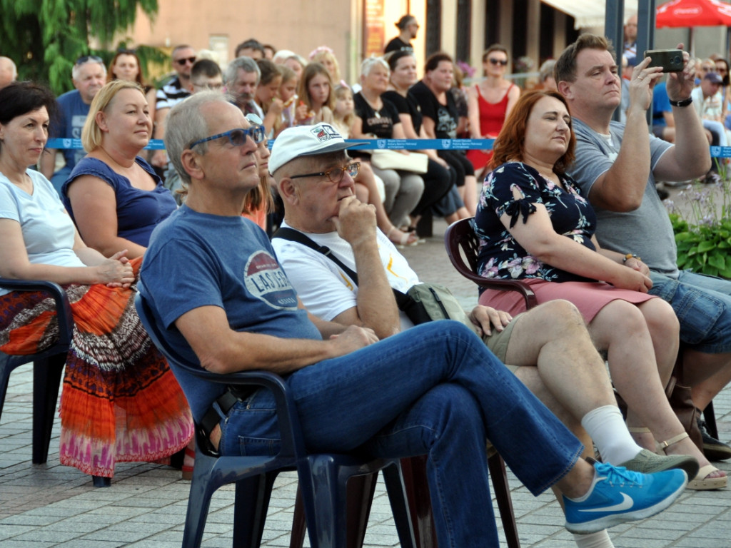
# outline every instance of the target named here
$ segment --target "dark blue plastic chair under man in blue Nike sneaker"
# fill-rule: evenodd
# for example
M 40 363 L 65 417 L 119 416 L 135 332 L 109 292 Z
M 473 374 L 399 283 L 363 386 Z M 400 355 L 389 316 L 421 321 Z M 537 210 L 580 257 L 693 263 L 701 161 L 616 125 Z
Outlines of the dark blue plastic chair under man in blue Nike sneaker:
M 211 495 L 224 484 L 236 484 L 233 542 L 258 547 L 274 479 L 280 471 L 297 470 L 305 518 L 313 548 L 346 547 L 346 482 L 382 470 L 402 547 L 414 547 L 398 459 L 363 460 L 348 454 L 308 454 L 304 449 L 296 407 L 287 384 L 268 371 L 210 373 L 181 357 L 164 338 L 147 302 L 138 293 L 135 306 L 145 329 L 170 362 L 173 372 L 205 381 L 269 389 L 276 400 L 281 449 L 274 456 L 219 456 L 196 425 L 196 454 L 188 499 L 183 548 L 200 547 Z

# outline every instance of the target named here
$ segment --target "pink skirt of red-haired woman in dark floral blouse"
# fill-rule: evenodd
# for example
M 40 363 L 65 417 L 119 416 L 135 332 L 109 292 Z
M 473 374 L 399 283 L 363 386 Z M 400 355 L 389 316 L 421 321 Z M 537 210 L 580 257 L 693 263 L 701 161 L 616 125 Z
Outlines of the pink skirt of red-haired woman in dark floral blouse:
M 640 293 L 630 289 L 619 289 L 603 281 L 564 281 L 558 283 L 545 281 L 539 278 L 523 280 L 536 294 L 538 304 L 550 300 L 564 299 L 572 302 L 579 309 L 584 321 L 588 324 L 602 308 L 613 300 L 625 300 L 638 305 L 650 299 L 653 295 Z M 485 289 L 480 295 L 480 304 L 491 306 L 497 310 L 510 313 L 512 316 L 526 311 L 526 301 L 520 293 L 515 291 L 501 291 L 499 289 Z

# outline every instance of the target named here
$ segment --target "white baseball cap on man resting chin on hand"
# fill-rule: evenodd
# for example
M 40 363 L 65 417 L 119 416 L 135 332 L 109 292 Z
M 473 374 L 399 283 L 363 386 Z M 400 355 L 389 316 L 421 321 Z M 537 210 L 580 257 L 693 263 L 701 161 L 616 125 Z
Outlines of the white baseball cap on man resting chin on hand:
M 285 129 L 277 136 L 269 157 L 269 172 L 279 170 L 287 162 L 299 156 L 315 156 L 344 151 L 363 142 L 345 142 L 338 130 L 329 123 L 314 126 L 295 126 Z

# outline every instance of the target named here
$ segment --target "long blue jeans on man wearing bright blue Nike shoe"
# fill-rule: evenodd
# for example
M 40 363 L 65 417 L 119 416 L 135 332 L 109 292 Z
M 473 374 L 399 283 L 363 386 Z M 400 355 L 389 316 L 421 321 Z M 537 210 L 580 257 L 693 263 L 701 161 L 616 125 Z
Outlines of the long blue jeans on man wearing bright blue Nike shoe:
M 427 454 L 442 548 L 499 546 L 485 438 L 539 494 L 573 468 L 583 447 L 456 321 L 422 324 L 287 378 L 308 451 L 374 457 Z M 224 454 L 279 449 L 273 397 L 255 392 L 221 421 Z

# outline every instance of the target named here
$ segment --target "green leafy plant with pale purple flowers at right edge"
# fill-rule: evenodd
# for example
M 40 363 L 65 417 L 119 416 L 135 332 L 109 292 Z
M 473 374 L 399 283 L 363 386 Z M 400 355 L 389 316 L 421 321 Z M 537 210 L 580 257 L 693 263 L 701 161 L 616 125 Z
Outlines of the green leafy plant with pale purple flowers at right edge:
M 678 268 L 731 278 L 731 189 L 727 181 L 693 183 L 666 200 L 678 246 Z

